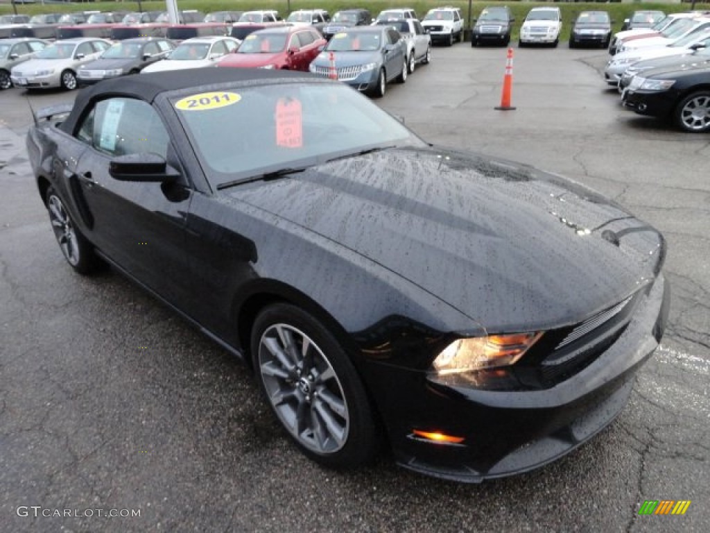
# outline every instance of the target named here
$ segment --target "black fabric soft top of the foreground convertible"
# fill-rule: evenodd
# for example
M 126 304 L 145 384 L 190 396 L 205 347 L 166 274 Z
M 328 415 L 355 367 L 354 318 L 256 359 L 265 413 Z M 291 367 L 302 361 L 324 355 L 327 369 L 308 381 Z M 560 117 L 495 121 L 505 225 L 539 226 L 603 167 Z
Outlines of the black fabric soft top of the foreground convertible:
M 121 95 L 153 102 L 161 92 L 202 87 L 228 82 L 252 82 L 258 80 L 288 80 L 289 78 L 310 77 L 307 72 L 290 70 L 270 70 L 265 68 L 190 68 L 167 72 L 148 72 L 132 76 L 116 77 L 104 80 L 96 85 L 82 89 L 74 103 L 69 117 L 62 123 L 61 129 L 71 133 L 84 107 L 94 99 L 104 95 Z M 322 77 L 313 76 L 322 81 Z

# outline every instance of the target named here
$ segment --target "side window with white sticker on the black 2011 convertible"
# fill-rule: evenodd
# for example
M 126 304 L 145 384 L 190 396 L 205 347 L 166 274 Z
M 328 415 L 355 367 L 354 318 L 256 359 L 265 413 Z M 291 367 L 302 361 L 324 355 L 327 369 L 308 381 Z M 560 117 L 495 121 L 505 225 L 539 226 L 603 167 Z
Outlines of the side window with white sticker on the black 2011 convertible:
M 84 120 L 77 137 L 111 156 L 126 154 L 168 155 L 170 138 L 151 104 L 131 98 L 98 102 Z

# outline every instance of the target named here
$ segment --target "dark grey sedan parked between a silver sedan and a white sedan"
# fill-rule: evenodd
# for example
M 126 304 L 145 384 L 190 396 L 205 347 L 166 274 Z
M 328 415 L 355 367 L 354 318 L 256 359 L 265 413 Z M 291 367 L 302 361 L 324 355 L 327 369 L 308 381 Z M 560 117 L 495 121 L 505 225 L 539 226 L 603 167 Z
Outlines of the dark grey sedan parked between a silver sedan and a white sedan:
M 165 58 L 174 48 L 173 41 L 161 37 L 119 41 L 99 59 L 83 65 L 77 72 L 77 80 L 79 85 L 92 85 L 111 77 L 138 74 L 148 65 Z

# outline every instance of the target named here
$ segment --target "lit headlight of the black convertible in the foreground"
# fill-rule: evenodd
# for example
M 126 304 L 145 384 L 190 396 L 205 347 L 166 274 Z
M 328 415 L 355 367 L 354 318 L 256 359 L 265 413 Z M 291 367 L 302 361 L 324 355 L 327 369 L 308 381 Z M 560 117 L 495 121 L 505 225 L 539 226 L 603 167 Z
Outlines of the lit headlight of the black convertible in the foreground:
M 432 363 L 438 375 L 513 365 L 542 337 L 542 332 L 490 335 L 455 340 Z

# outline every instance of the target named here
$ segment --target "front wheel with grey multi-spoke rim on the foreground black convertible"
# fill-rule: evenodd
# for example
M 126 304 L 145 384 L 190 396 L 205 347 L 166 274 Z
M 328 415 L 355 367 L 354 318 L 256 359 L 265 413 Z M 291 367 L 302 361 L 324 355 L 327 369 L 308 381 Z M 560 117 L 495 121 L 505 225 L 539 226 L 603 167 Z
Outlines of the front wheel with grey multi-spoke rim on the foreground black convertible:
M 251 353 L 261 391 L 306 456 L 333 468 L 372 460 L 370 402 L 345 350 L 320 321 L 288 303 L 270 306 L 256 318 Z

